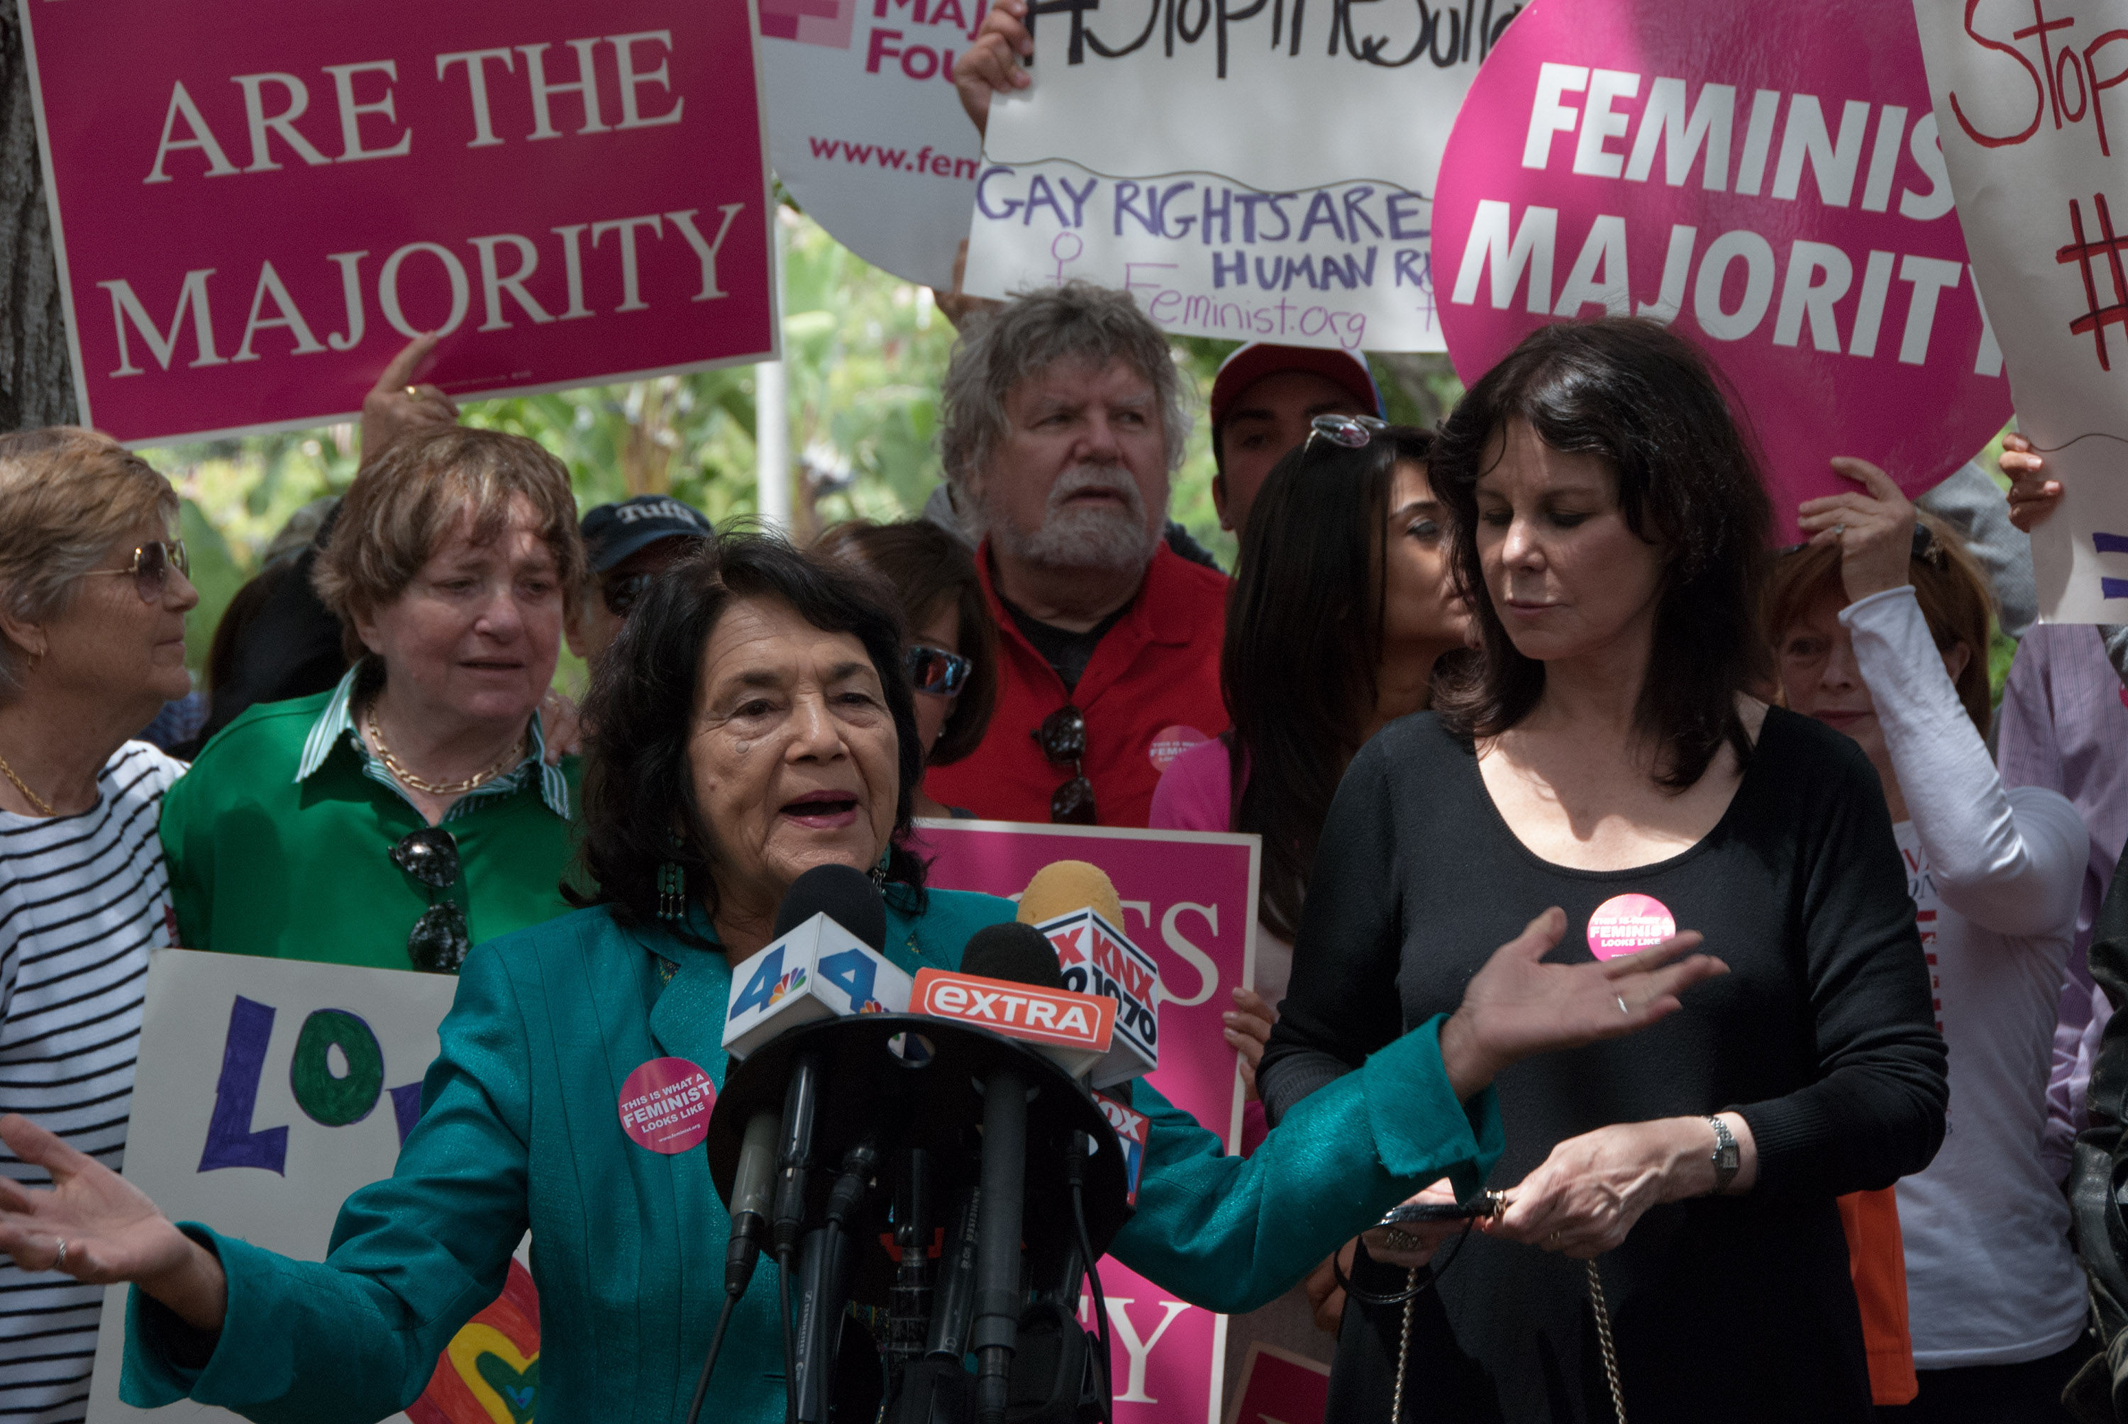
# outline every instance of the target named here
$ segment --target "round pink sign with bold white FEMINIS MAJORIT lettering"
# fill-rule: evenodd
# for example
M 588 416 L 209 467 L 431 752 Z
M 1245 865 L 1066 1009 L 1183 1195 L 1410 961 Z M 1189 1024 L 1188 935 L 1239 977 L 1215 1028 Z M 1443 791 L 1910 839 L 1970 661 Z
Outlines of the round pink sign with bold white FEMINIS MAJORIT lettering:
M 1919 492 L 2009 419 L 1905 4 L 1536 0 L 1464 100 L 1432 232 L 1464 381 L 1545 321 L 1670 324 L 1743 398 L 1790 530 L 1853 487 L 1832 456 Z

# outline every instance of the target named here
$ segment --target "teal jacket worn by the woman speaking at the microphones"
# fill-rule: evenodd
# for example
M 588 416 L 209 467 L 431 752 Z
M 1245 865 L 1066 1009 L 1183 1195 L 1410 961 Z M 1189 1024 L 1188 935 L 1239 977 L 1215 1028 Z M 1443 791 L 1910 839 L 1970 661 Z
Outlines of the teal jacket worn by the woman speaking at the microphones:
M 1011 917 L 1009 900 L 934 890 L 921 917 L 890 909 L 887 954 L 911 973 L 949 968 L 977 928 Z M 724 1305 L 730 1222 L 709 1158 L 634 1145 L 619 1092 L 660 1056 L 694 1060 L 721 1086 L 730 988 L 715 949 L 606 909 L 477 947 L 394 1175 L 347 1198 L 323 1262 L 194 1228 L 228 1273 L 221 1337 L 204 1369 L 179 1367 L 177 1318 L 132 1292 L 126 1403 L 192 1396 L 262 1424 L 368 1424 L 404 1409 L 451 1335 L 502 1290 L 530 1228 L 541 1420 L 681 1420 Z M 1151 1115 L 1138 1209 L 1111 1254 L 1185 1301 L 1243 1311 L 1426 1183 L 1475 1192 L 1500 1124 L 1490 1090 L 1468 1109 L 1456 1100 L 1434 1030 L 1309 1096 L 1249 1158 L 1224 1156 L 1138 1083 L 1134 1105 Z M 719 1424 L 783 1418 L 775 1271 L 755 1271 L 713 1390 Z

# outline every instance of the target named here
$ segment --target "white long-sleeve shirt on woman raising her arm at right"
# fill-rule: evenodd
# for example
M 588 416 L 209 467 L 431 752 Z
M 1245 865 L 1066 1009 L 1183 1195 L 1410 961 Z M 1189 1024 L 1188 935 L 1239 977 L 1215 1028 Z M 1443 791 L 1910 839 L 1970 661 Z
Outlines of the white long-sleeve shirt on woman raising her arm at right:
M 1911 819 L 1896 826 L 1949 1045 L 1949 1132 L 1898 1183 L 1915 1369 L 2075 1343 L 2083 1273 L 2041 1145 L 2062 966 L 2090 837 L 2062 796 L 2005 790 L 1911 587 L 1841 611 Z

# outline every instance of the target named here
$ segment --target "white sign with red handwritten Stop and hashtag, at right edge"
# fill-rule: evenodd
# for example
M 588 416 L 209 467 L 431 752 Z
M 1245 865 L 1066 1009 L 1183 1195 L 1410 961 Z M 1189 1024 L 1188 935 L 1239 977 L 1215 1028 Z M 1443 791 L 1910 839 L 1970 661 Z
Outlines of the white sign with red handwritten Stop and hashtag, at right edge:
M 2128 622 L 2128 0 L 1913 15 L 2017 428 L 2064 490 L 2032 530 L 2039 615 Z

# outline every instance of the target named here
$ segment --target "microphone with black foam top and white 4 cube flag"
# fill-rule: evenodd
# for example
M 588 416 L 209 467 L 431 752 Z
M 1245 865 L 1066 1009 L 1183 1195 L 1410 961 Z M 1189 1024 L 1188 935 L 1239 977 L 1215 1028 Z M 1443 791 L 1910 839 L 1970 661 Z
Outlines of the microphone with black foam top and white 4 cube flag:
M 734 1060 L 798 1024 L 909 1009 L 913 983 L 881 954 L 885 900 L 862 871 L 826 864 L 794 879 L 775 932 L 732 975 L 724 1052 Z

